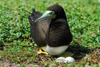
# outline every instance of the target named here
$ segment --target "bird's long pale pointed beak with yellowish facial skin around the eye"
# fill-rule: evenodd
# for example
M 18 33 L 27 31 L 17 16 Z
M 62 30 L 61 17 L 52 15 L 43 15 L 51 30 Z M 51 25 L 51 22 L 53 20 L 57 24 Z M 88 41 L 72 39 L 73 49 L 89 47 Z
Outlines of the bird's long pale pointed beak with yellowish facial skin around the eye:
M 39 22 L 45 19 L 54 19 L 56 17 L 53 11 L 46 11 L 41 17 L 35 20 L 35 22 Z

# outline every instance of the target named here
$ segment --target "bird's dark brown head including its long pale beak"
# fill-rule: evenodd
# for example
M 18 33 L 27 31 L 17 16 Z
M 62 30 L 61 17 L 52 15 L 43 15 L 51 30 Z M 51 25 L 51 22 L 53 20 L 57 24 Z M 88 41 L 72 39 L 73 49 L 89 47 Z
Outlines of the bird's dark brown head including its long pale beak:
M 53 6 L 48 7 L 46 12 L 41 17 L 39 17 L 36 20 L 36 22 L 42 21 L 45 19 L 59 19 L 59 18 L 66 19 L 66 15 L 65 15 L 64 9 L 61 6 L 55 4 Z

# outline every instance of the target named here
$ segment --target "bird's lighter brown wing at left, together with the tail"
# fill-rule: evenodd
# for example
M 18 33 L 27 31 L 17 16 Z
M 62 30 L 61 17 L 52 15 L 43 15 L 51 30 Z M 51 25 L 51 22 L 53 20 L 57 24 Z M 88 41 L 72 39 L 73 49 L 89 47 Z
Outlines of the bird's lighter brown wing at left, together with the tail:
M 28 17 L 28 20 L 31 24 L 30 27 L 31 36 L 39 47 L 46 45 L 45 37 L 47 29 L 50 24 L 49 19 L 35 22 L 35 20 L 39 18 L 41 15 L 42 14 L 40 12 L 36 12 L 34 9 L 32 9 L 32 14 Z

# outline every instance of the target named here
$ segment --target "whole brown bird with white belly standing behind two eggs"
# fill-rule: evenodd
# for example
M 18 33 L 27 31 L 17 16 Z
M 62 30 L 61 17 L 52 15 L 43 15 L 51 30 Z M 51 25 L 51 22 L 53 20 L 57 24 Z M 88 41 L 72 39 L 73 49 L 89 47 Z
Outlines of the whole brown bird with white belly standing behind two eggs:
M 39 47 L 39 54 L 61 55 L 69 47 L 73 36 L 62 6 L 54 4 L 44 14 L 32 8 L 28 20 L 31 36 Z

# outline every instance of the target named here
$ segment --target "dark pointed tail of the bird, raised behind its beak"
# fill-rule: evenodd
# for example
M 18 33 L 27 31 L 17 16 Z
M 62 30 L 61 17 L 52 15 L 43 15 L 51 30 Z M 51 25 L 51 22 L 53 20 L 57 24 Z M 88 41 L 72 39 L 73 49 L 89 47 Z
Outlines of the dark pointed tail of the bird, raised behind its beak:
M 42 14 L 40 12 L 36 12 L 35 9 L 32 8 L 32 13 L 31 15 L 28 17 L 28 20 L 30 22 L 31 25 L 34 24 L 34 21 L 39 18 Z

